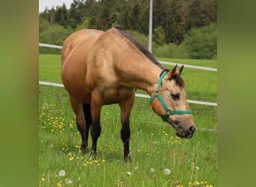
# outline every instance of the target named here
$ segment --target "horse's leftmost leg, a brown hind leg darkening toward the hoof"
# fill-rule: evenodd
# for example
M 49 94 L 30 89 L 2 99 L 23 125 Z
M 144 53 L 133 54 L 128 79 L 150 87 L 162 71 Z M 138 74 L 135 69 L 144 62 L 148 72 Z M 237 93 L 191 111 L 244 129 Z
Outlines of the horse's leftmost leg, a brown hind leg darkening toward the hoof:
M 74 113 L 76 114 L 76 126 L 82 138 L 80 150 L 82 153 L 88 153 L 88 131 L 90 124 L 86 124 L 83 103 L 70 96 L 70 102 Z

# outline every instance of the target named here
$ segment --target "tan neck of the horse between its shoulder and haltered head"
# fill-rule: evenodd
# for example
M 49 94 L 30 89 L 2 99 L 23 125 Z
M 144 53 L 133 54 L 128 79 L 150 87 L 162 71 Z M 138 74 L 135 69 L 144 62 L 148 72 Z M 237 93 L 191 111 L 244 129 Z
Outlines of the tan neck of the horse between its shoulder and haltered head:
M 156 91 L 162 69 L 115 29 L 109 31 L 109 34 L 112 37 L 108 37 L 106 43 L 118 43 L 111 46 L 115 52 L 112 53 L 112 66 L 118 76 L 118 84 L 147 91 L 149 95 Z

